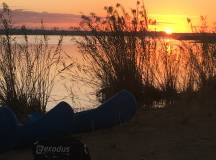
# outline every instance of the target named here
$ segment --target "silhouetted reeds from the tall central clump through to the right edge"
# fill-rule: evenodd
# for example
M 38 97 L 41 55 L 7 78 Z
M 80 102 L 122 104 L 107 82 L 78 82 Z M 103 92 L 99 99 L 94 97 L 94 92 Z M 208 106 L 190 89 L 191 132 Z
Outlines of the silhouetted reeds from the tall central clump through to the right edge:
M 86 62 L 91 64 L 88 72 L 101 82 L 97 92 L 100 101 L 128 89 L 147 106 L 170 104 L 197 94 L 215 79 L 215 41 L 175 42 L 133 34 L 149 31 L 149 25 L 155 23 L 139 1 L 130 13 L 120 4 L 105 7 L 105 11 L 105 18 L 94 13 L 82 16 L 81 28 L 91 31 L 92 36 L 77 41 Z M 200 32 L 204 33 L 207 25 L 203 17 L 201 20 Z

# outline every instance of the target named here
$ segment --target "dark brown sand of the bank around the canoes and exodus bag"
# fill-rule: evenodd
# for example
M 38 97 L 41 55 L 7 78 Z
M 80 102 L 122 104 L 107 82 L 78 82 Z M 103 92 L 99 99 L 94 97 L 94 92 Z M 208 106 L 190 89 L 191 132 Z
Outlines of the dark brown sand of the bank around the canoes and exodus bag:
M 216 158 L 216 112 L 197 110 L 139 109 L 127 124 L 80 137 L 92 160 L 212 160 Z M 0 155 L 0 160 L 32 159 L 31 149 Z

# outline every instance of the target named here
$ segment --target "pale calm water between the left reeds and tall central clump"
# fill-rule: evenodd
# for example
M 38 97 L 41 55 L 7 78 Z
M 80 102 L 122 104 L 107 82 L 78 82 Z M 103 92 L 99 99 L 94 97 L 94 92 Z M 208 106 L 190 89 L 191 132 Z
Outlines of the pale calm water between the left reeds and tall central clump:
M 34 44 L 36 38 L 39 36 L 29 36 L 29 43 Z M 79 72 L 77 67 L 78 65 L 83 66 L 85 62 L 83 61 L 82 55 L 79 52 L 75 44 L 75 39 L 80 37 L 71 37 L 65 36 L 63 38 L 63 52 L 62 54 L 68 54 L 71 58 L 65 58 L 65 64 L 69 65 L 75 62 L 74 67 L 70 67 L 72 70 L 71 74 L 66 71 L 58 76 L 55 80 L 55 84 L 49 99 L 47 110 L 53 108 L 60 101 L 65 101 L 75 108 L 75 110 L 85 110 L 88 108 L 95 108 L 98 105 L 95 95 L 95 89 L 92 86 L 89 86 L 82 79 L 85 75 L 82 75 L 82 72 Z M 18 42 L 24 42 L 23 36 L 16 36 Z M 58 44 L 59 36 L 48 36 L 50 47 L 55 47 Z M 63 66 L 62 66 L 63 67 Z M 61 70 L 62 68 L 59 68 Z M 74 75 L 76 73 L 77 75 Z M 78 77 L 77 77 L 78 76 Z M 73 96 L 71 96 L 70 90 L 73 91 Z M 73 100 L 72 100 L 73 99 Z

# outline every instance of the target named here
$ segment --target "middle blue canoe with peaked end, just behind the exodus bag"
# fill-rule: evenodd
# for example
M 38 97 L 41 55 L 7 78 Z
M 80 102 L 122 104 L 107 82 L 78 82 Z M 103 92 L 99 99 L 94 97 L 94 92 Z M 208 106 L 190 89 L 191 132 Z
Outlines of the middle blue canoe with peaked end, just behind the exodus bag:
M 37 140 L 61 136 L 69 133 L 73 123 L 73 109 L 61 102 L 37 121 L 18 127 L 17 144 L 31 144 Z

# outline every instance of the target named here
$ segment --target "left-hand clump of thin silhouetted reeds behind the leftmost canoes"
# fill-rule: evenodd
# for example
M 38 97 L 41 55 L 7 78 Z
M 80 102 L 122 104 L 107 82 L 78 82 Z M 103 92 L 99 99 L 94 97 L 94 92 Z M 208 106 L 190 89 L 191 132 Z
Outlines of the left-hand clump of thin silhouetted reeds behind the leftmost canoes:
M 24 120 L 31 112 L 45 112 L 61 61 L 62 37 L 53 48 L 48 37 L 42 36 L 30 44 L 28 36 L 23 42 L 10 35 L 12 18 L 10 9 L 3 4 L 0 37 L 0 104 L 11 107 Z M 23 34 L 25 29 L 23 27 Z

